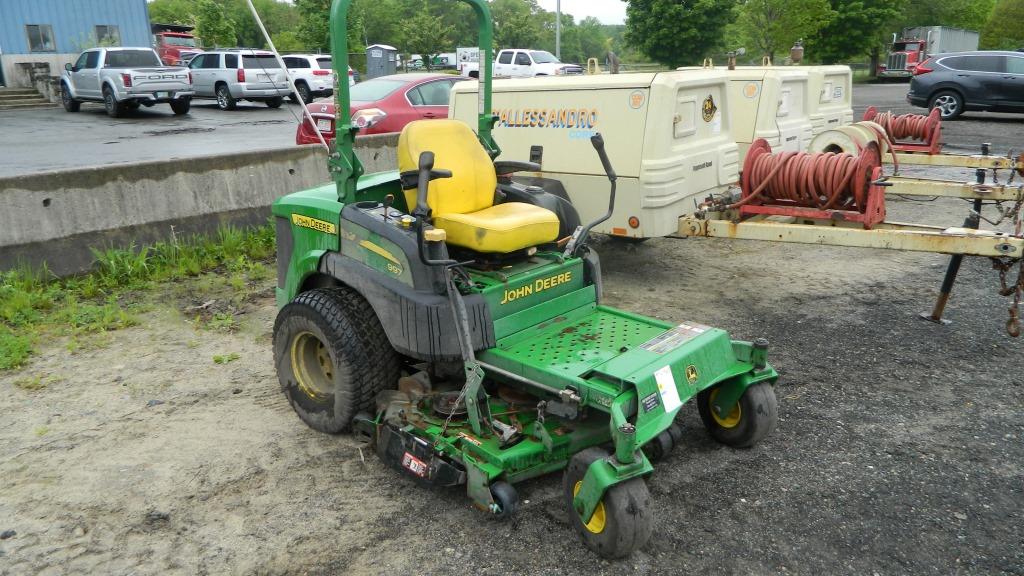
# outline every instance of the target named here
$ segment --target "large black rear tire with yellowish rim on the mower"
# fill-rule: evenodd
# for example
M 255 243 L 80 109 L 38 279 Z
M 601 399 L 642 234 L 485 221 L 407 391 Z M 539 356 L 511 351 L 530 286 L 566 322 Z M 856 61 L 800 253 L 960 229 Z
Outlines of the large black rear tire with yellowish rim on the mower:
M 348 429 L 398 383 L 399 360 L 373 308 L 348 288 L 303 292 L 278 314 L 273 359 L 285 396 L 309 427 Z

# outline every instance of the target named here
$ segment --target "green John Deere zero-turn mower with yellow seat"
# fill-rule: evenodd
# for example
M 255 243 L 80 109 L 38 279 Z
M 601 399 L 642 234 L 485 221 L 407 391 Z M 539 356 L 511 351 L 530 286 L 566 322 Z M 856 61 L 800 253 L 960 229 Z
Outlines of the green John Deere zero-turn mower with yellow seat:
M 749 447 L 775 426 L 778 376 L 764 340 L 600 304 L 587 243 L 597 222 L 580 225 L 562 197 L 510 177 L 539 166 L 493 160 L 490 15 L 486 0 L 466 1 L 479 27 L 477 132 L 413 122 L 398 170 L 364 175 L 353 138 L 382 113 L 351 116 L 340 82 L 335 182 L 274 204 L 278 376 L 309 426 L 364 436 L 389 465 L 465 485 L 496 517 L 515 511 L 516 483 L 563 470 L 586 545 L 623 557 L 650 536 L 644 477 L 678 441 L 682 404 L 696 398 L 716 440 Z M 348 5 L 331 8 L 342 79 Z M 615 173 L 592 141 L 610 214 Z

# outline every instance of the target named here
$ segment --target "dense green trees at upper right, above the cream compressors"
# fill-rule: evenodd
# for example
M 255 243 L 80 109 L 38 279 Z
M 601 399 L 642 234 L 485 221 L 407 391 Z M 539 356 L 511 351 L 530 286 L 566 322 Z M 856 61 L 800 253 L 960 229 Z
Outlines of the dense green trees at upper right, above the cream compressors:
M 692 65 L 737 48 L 772 61 L 802 41 L 806 58 L 871 59 L 916 26 L 981 32 L 982 49 L 1024 48 L 1024 0 L 629 0 L 626 41 L 651 59 Z

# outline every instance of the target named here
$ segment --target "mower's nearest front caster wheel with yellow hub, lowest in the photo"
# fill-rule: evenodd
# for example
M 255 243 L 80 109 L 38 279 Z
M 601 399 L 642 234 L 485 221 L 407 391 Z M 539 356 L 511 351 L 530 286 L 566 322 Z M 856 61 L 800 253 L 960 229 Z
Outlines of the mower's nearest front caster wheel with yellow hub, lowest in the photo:
M 572 507 L 572 499 L 583 486 L 587 468 L 608 457 L 600 448 L 588 448 L 569 460 L 562 477 L 562 492 L 569 523 L 588 548 L 606 559 L 630 556 L 647 543 L 653 529 L 650 493 L 642 478 L 616 484 L 605 491 L 600 503 L 584 522 Z

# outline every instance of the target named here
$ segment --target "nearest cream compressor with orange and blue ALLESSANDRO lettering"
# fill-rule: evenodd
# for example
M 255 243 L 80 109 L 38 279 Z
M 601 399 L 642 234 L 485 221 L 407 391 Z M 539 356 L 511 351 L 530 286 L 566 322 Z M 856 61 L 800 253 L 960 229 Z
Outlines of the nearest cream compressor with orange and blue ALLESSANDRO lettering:
M 449 118 L 476 127 L 477 85 L 455 85 Z M 726 75 L 714 70 L 495 80 L 494 137 L 501 159 L 539 162 L 536 176 L 560 180 L 588 222 L 608 205 L 590 142 L 600 132 L 618 188 L 614 213 L 595 232 L 667 236 L 694 201 L 739 177 L 727 92 Z

